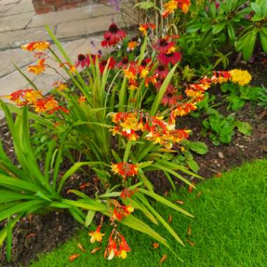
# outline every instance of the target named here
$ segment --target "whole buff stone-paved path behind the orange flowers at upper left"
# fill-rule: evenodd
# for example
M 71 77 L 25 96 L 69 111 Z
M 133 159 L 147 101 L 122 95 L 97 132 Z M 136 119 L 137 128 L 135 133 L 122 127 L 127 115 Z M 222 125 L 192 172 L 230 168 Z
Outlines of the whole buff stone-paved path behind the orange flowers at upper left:
M 124 2 L 123 8 L 130 11 L 131 5 Z M 75 60 L 79 53 L 98 51 L 101 35 L 112 21 L 124 27 L 136 23 L 129 18 L 126 23 L 125 16 L 103 4 L 37 15 L 32 0 L 0 0 L 0 95 L 27 87 L 27 81 L 15 70 L 13 63 L 25 71 L 26 66 L 34 62 L 32 54 L 22 51 L 20 46 L 30 41 L 49 40 L 45 23 Z M 44 93 L 60 79 L 51 70 L 41 76 L 28 76 Z M 0 111 L 1 118 L 3 113 Z

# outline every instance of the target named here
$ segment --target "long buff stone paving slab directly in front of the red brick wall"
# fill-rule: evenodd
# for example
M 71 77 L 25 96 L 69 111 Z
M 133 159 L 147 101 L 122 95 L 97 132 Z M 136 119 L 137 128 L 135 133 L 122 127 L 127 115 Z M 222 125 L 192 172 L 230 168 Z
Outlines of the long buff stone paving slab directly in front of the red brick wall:
M 99 15 L 107 15 L 112 13 L 117 13 L 117 11 L 115 11 L 110 6 L 98 4 L 96 6 L 86 6 L 84 8 L 57 11 L 56 13 L 51 12 L 41 15 L 34 15 L 27 27 L 40 27 L 44 26 L 45 24 L 53 26 L 63 22 L 75 22 L 77 20 L 96 18 Z

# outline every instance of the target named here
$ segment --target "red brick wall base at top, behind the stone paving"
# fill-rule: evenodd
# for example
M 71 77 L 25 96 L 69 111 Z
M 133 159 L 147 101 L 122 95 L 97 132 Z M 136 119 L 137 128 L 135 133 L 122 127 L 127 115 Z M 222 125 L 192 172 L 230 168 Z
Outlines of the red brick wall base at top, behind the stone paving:
M 37 14 L 87 6 L 92 0 L 32 0 Z

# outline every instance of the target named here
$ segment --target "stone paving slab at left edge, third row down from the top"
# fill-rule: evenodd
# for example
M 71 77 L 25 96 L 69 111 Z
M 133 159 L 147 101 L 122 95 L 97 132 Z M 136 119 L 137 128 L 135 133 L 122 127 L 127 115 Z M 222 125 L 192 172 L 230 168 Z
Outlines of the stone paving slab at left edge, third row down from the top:
M 53 33 L 55 33 L 56 27 L 51 27 L 51 30 Z M 0 50 L 4 50 L 6 48 L 17 48 L 22 44 L 29 43 L 30 41 L 49 39 L 50 37 L 46 32 L 45 27 L 37 27 L 29 30 L 18 30 L 13 32 L 0 32 Z

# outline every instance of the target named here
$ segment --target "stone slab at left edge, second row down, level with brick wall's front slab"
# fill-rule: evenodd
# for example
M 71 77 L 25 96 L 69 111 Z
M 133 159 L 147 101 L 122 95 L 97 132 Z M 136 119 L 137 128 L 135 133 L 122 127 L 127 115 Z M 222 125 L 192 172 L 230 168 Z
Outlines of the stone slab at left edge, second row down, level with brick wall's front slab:
M 0 32 L 22 30 L 27 27 L 34 12 L 4 16 L 0 18 Z

